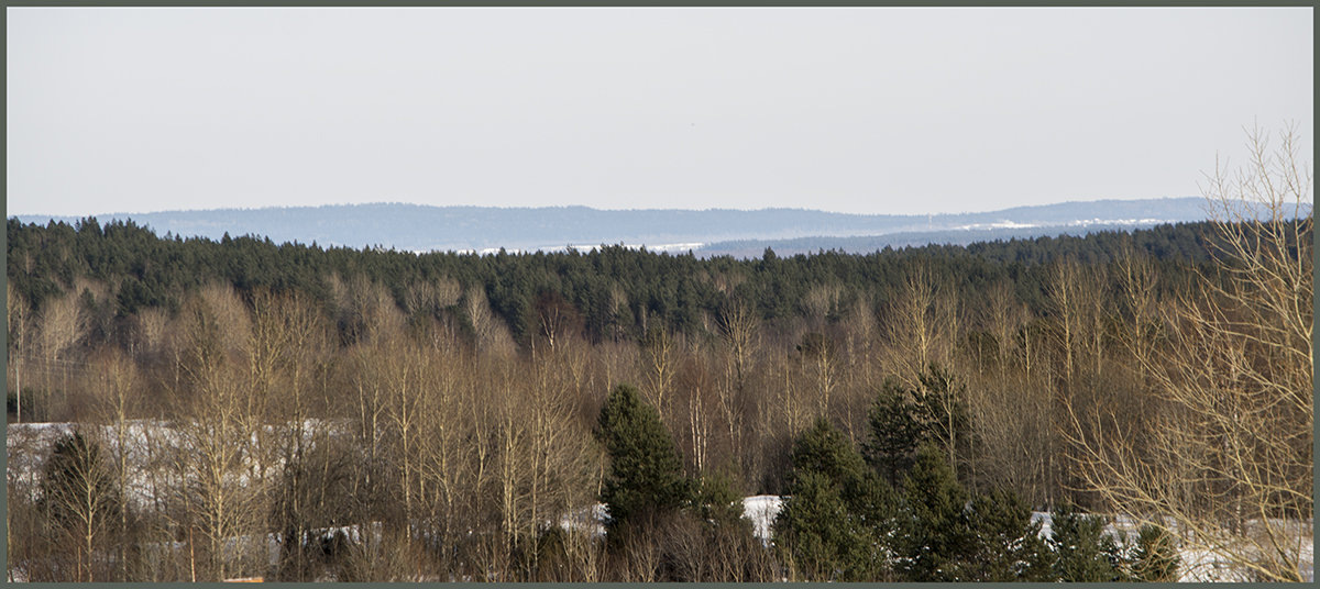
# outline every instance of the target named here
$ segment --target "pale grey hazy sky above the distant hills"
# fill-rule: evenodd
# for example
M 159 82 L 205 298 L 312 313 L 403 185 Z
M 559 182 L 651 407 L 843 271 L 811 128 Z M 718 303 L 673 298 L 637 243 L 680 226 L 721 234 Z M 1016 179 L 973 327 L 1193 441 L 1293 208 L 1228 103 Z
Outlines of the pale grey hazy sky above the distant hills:
M 8 8 L 8 213 L 983 211 L 1312 161 L 1300 9 Z

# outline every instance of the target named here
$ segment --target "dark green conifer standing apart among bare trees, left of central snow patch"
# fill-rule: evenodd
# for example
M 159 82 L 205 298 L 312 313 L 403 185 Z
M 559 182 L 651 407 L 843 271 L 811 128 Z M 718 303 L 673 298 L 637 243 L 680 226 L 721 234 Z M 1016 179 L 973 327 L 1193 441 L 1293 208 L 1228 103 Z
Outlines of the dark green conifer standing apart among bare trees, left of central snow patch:
M 673 437 L 655 407 L 644 405 L 631 385 L 610 391 L 595 430 L 610 455 L 610 472 L 601 501 L 614 534 L 631 520 L 672 513 L 689 502 L 690 485 Z

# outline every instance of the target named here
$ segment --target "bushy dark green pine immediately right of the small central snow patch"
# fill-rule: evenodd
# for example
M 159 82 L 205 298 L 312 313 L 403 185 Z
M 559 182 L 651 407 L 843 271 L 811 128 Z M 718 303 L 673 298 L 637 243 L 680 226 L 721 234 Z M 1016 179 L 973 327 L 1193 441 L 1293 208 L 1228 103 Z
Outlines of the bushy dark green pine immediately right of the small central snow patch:
M 880 578 L 895 517 L 890 486 L 825 419 L 803 432 L 791 460 L 788 498 L 775 519 L 780 553 L 807 580 Z

